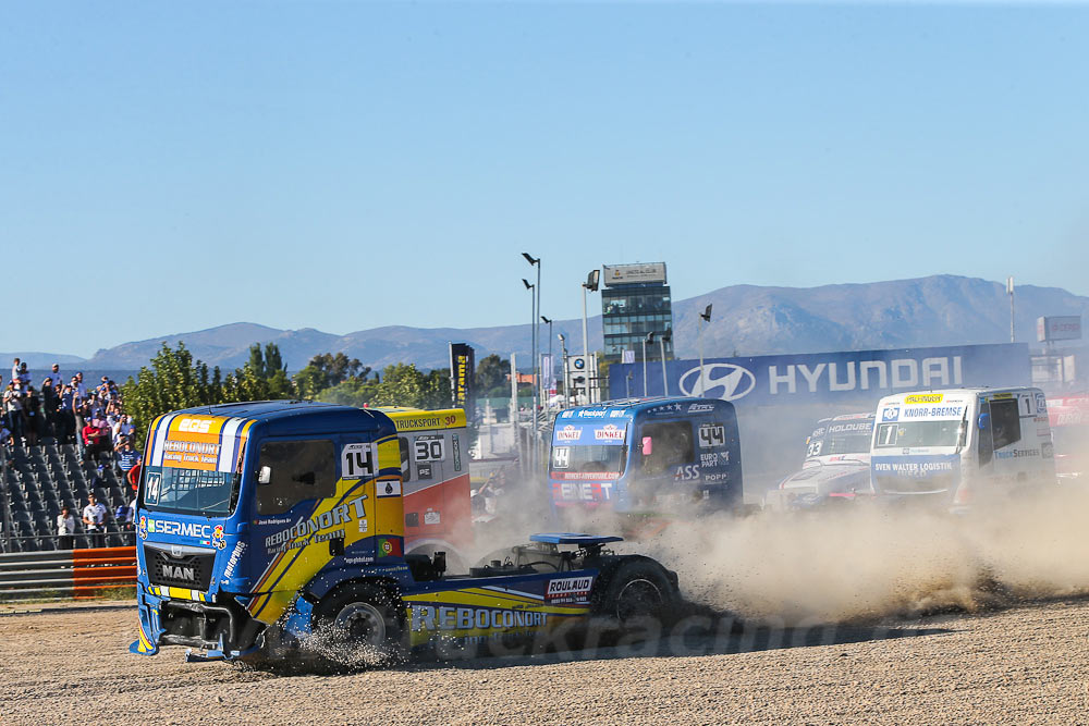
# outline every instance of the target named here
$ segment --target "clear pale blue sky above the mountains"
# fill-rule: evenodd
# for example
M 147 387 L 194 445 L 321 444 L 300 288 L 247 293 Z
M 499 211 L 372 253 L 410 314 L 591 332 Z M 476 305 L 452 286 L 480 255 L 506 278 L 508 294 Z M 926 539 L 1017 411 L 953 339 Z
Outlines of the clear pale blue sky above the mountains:
M 1087 37 L 1078 4 L 10 3 L 0 349 L 521 323 L 523 250 L 558 319 L 629 261 L 677 299 L 1089 294 Z

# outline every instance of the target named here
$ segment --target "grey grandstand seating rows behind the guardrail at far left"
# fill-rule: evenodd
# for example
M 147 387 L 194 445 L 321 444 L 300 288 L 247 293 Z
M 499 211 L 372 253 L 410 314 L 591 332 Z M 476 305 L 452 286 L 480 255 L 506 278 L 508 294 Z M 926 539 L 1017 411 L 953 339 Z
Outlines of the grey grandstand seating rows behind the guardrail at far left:
M 75 546 L 90 546 L 81 513 L 91 487 L 108 509 L 102 544 L 133 543 L 132 532 L 122 532 L 113 519 L 114 509 L 131 501 L 132 490 L 118 478 L 110 463 L 99 471 L 97 463 L 81 462 L 72 444 L 14 446 L 5 451 L 0 482 L 0 496 L 5 500 L 5 506 L 0 503 L 0 552 L 56 550 L 57 516 L 63 506 L 76 519 Z

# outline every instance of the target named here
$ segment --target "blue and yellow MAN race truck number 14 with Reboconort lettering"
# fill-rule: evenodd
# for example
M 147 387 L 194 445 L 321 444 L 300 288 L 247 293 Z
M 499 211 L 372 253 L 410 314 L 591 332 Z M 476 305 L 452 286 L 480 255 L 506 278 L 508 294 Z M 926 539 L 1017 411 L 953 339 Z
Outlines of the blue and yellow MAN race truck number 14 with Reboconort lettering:
M 329 642 L 388 653 L 507 642 L 595 617 L 665 617 L 680 596 L 657 562 L 605 550 L 615 537 L 536 534 L 465 575 L 446 575 L 442 552 L 406 556 L 396 428 L 347 406 L 160 416 L 136 524 L 130 650 L 145 655 L 186 645 L 203 651 L 196 660 L 276 661 L 318 642 L 322 653 Z

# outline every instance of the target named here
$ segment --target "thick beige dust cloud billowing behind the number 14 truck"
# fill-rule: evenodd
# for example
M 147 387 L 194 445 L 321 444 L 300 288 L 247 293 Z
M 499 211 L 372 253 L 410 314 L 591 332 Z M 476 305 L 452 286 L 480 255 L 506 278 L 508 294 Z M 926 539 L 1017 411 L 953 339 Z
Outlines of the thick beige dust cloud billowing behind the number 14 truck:
M 1089 592 L 1089 488 L 963 515 L 881 505 L 675 521 L 640 551 L 693 602 L 785 625 Z

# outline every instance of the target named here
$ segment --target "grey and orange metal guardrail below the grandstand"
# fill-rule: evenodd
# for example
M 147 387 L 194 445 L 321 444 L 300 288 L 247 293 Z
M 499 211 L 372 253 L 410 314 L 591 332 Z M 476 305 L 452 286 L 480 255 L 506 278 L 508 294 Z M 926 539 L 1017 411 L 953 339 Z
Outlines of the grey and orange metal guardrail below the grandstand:
M 135 546 L 0 554 L 0 602 L 93 598 L 135 586 Z

